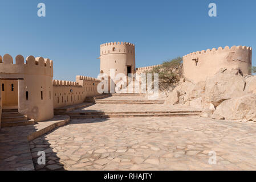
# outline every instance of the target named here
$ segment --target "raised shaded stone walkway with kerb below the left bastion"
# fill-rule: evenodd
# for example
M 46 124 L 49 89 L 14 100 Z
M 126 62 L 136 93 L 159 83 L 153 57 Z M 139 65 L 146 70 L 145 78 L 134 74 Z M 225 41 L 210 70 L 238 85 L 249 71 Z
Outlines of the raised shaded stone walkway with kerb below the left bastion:
M 70 121 L 67 115 L 35 125 L 3 127 L 0 130 L 0 170 L 34 170 L 29 141 Z

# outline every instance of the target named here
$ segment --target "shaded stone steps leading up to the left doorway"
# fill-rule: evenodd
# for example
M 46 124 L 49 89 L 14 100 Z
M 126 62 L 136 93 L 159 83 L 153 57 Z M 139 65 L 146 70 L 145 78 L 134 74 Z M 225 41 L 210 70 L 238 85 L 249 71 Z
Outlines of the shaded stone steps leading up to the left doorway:
M 33 125 L 34 119 L 28 119 L 26 115 L 19 113 L 18 109 L 3 109 L 1 127 Z

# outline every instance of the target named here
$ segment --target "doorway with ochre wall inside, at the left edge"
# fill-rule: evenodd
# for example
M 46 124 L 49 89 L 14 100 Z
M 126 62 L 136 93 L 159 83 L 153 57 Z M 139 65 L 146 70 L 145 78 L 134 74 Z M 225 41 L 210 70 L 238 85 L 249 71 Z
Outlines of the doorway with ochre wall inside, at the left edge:
M 18 109 L 18 80 L 1 80 L 3 109 Z

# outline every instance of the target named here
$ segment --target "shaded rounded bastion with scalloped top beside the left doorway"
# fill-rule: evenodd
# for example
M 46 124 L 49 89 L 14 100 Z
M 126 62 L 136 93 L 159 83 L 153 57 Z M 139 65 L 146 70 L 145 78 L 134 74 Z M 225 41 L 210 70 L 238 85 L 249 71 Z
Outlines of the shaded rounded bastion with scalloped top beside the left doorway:
M 48 94 L 52 93 L 52 74 L 52 61 L 43 57 L 29 56 L 24 63 L 24 57 L 18 55 L 15 64 L 8 54 L 0 58 L 0 78 L 18 80 L 19 113 L 35 121 L 54 117 L 52 98 Z

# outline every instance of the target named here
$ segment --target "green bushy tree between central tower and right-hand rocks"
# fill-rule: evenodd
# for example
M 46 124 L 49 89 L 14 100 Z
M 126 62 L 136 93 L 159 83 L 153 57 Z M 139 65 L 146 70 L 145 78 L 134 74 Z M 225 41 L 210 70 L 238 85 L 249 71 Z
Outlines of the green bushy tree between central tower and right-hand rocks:
M 159 89 L 166 90 L 174 88 L 182 76 L 182 57 L 164 61 L 161 65 L 154 67 L 145 73 L 159 73 Z

